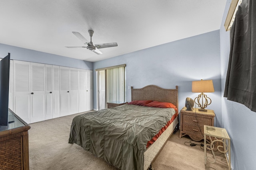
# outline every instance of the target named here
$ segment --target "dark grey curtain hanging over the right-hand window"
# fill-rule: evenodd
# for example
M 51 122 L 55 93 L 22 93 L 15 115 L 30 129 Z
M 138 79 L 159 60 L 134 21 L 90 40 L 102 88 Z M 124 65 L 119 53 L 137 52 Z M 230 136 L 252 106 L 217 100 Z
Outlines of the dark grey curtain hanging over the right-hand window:
M 256 0 L 242 0 L 231 27 L 224 97 L 256 112 Z

